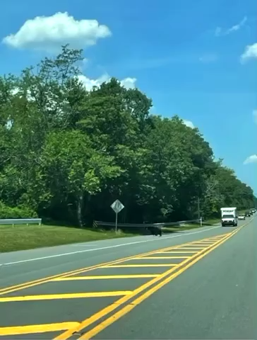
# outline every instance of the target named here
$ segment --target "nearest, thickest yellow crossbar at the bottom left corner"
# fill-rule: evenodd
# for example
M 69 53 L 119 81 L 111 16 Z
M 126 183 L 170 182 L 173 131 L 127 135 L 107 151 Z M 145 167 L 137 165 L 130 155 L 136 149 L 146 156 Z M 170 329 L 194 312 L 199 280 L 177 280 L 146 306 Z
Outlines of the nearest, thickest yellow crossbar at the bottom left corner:
M 57 324 L 31 324 L 28 326 L 0 327 L 0 336 L 35 334 L 46 331 L 65 331 L 77 327 L 79 322 L 60 322 Z

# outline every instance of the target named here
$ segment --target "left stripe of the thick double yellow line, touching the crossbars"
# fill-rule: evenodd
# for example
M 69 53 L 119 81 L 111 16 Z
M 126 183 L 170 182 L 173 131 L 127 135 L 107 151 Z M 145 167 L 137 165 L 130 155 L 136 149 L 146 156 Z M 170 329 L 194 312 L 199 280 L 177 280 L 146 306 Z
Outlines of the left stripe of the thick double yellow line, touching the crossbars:
M 223 239 L 227 239 L 227 237 L 224 237 Z M 220 241 L 218 241 L 217 244 L 218 243 L 220 243 Z M 178 268 L 185 266 L 186 263 L 190 263 L 193 259 L 197 259 L 198 256 L 200 256 L 201 254 L 204 254 L 205 251 L 208 251 L 208 249 L 211 249 L 211 248 L 213 248 L 213 246 L 209 246 L 209 247 L 207 247 L 207 248 L 205 248 L 201 251 L 198 251 L 197 254 L 193 254 L 193 256 L 191 256 L 189 259 L 186 259 L 186 260 L 182 261 L 181 263 L 179 263 L 178 266 L 173 267 L 173 268 L 169 269 L 168 271 L 165 271 L 165 273 L 160 274 L 159 277 L 153 278 L 153 280 L 150 280 L 147 283 L 136 288 L 135 290 L 133 290 L 133 293 L 131 295 L 121 297 L 119 300 L 114 302 L 112 305 L 105 307 L 104 309 L 100 310 L 100 312 L 97 312 L 97 313 L 93 314 L 91 317 L 89 317 L 88 319 L 85 319 L 83 322 L 80 323 L 79 327 L 75 327 L 74 329 L 69 329 L 68 331 L 65 331 L 64 333 L 59 334 L 59 336 L 56 336 L 56 338 L 54 340 L 66 340 L 66 339 L 68 339 L 70 336 L 72 336 L 72 334 L 75 331 L 81 331 L 82 329 L 85 329 L 85 327 L 90 326 L 90 324 L 97 322 L 97 320 L 101 319 L 102 317 L 109 314 L 110 312 L 113 312 L 119 306 L 121 306 L 125 302 L 127 302 L 128 300 L 131 300 L 133 297 L 135 297 L 139 293 L 142 293 L 145 289 L 148 289 L 150 286 L 152 286 L 152 285 L 158 283 L 159 281 L 165 279 L 167 276 L 169 276 L 169 274 L 173 273 L 174 271 L 177 271 Z M 194 252 L 196 253 L 196 251 L 194 251 Z M 88 338 L 88 339 L 90 339 L 90 338 Z

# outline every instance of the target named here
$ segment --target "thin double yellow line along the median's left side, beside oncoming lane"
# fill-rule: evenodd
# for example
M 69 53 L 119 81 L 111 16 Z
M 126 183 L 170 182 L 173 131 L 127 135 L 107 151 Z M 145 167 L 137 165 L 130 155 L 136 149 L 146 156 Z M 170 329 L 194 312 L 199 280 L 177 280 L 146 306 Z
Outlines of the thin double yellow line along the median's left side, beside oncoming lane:
M 192 244 L 192 243 L 193 242 L 186 242 L 184 244 L 180 244 L 179 246 L 189 245 L 189 244 Z M 169 246 L 169 247 L 163 248 L 161 250 L 165 251 L 165 250 L 169 250 L 169 249 L 174 249 L 175 247 L 178 248 L 179 246 L 178 245 L 176 245 L 176 246 Z M 148 251 L 147 253 L 138 254 L 138 257 L 152 255 L 152 254 L 156 254 L 156 253 L 157 253 L 156 250 L 155 251 Z M 47 276 L 45 278 L 39 278 L 37 280 L 27 281 L 25 283 L 20 283 L 18 285 L 8 286 L 6 288 L 1 288 L 0 289 L 0 295 L 12 293 L 12 292 L 15 292 L 17 290 L 22 290 L 24 288 L 34 287 L 35 285 L 40 285 L 42 283 L 51 282 L 54 278 L 73 276 L 73 275 L 76 275 L 76 274 L 79 274 L 79 273 L 85 273 L 87 271 L 92 271 L 92 270 L 95 270 L 97 268 L 100 268 L 101 266 L 109 265 L 109 264 L 112 264 L 112 263 L 113 264 L 121 263 L 121 262 L 124 262 L 124 261 L 128 261 L 129 259 L 133 259 L 134 257 L 135 257 L 135 255 L 128 256 L 128 257 L 124 257 L 124 258 L 121 258 L 121 259 L 118 259 L 118 260 L 109 261 L 109 262 L 105 262 L 105 263 L 100 263 L 100 264 L 97 264 L 95 266 L 88 266 L 88 267 L 76 269 L 76 270 L 73 270 L 73 271 L 66 271 L 64 273 L 56 274 L 54 276 Z

